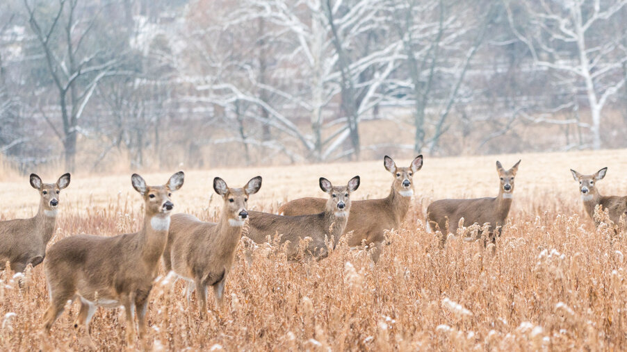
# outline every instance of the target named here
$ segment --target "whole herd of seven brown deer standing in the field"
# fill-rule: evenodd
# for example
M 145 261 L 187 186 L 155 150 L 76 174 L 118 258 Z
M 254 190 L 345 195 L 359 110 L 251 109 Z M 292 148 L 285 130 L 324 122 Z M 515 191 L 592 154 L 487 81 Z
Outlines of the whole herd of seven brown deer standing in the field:
M 427 231 L 439 233 L 440 246 L 448 237 L 442 233 L 456 235 L 463 224 L 479 224 L 482 238 L 496 242 L 512 206 L 519 164 L 520 160 L 506 170 L 496 162 L 500 185 L 494 198 L 441 199 L 428 206 Z M 365 246 L 376 263 L 386 242 L 386 231 L 400 228 L 409 211 L 413 176 L 422 166 L 423 156 L 416 157 L 409 167 L 398 167 L 385 156 L 384 167 L 393 181 L 389 195 L 382 199 L 351 201 L 352 193 L 359 188 L 359 176 L 346 185 L 332 185 L 321 177 L 320 189 L 328 194 L 327 199 L 295 199 L 284 203 L 279 215 L 248 210 L 249 197 L 261 188 L 261 176 L 241 188 L 229 187 L 216 177 L 213 190 L 223 199 L 217 223 L 188 214 L 170 215 L 174 208 L 172 192 L 184 183 L 182 171 L 172 175 L 165 185 L 154 186 L 133 174 L 131 184 L 144 201 L 140 231 L 117 236 L 73 235 L 52 244 L 47 251 L 56 230 L 60 191 L 70 185 L 70 174 L 60 176 L 56 183 L 42 183 L 39 176 L 31 174 L 31 186 L 40 193 L 39 210 L 31 219 L 0 221 L 0 270 L 10 265 L 11 270 L 22 272 L 29 265 L 44 263 L 50 298 L 43 317 L 44 334 L 49 335 L 67 302 L 79 299 L 81 308 L 74 328 L 83 328 L 82 340 L 89 347 L 94 347 L 89 322 L 97 306 L 124 307 L 130 346 L 136 340 L 135 315 L 140 340 L 145 335 L 149 294 L 161 260 L 166 272 L 188 281 L 188 301 L 195 291 L 201 318 L 207 310 L 208 286 L 213 287 L 221 308 L 225 282 L 245 227 L 245 235 L 257 244 L 277 239 L 274 243 L 284 246 L 290 260 L 323 259 L 329 255 L 329 248 L 346 236 L 348 246 Z M 571 172 L 579 182 L 587 214 L 594 219 L 599 207 L 607 210 L 614 224 L 619 224 L 627 213 L 627 196 L 602 196 L 595 187 L 607 170 L 605 167 L 592 175 Z

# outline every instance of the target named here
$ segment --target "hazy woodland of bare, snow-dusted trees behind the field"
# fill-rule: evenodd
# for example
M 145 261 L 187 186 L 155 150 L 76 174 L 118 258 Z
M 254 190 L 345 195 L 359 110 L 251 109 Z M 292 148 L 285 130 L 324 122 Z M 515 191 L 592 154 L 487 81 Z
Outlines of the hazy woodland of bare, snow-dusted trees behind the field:
M 110 172 L 624 148 L 626 3 L 3 0 L 0 151 Z

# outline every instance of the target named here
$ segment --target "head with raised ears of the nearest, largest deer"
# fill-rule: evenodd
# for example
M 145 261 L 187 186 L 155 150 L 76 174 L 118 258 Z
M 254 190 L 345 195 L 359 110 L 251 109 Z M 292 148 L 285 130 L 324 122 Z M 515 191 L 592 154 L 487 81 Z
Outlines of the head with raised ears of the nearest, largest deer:
M 133 176 L 131 176 L 131 183 L 133 184 L 133 187 L 142 195 L 144 199 L 146 215 L 149 217 L 162 218 L 170 215 L 172 208 L 174 208 L 174 203 L 170 200 L 170 196 L 172 196 L 172 192 L 181 188 L 184 176 L 183 171 L 179 171 L 170 177 L 168 183 L 165 183 L 165 185 L 162 186 L 148 186 L 142 176 L 139 176 L 138 174 L 133 174 Z M 161 228 L 156 229 L 163 230 Z M 168 229 L 165 228 L 165 230 Z

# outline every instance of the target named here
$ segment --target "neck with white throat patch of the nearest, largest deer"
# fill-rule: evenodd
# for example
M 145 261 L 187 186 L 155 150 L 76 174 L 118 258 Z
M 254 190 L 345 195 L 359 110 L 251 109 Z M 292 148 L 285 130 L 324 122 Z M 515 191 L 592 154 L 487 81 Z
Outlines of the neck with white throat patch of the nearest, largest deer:
M 146 214 L 144 227 L 138 233 L 140 238 L 141 257 L 149 265 L 158 265 L 163 255 L 165 243 L 170 230 L 170 215 Z

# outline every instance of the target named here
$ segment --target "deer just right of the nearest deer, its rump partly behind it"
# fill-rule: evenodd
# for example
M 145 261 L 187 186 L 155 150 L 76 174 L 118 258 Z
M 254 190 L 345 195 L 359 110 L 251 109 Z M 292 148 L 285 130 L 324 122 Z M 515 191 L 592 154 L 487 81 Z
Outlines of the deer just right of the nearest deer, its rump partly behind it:
M 188 214 L 172 215 L 163 264 L 166 271 L 172 270 L 189 281 L 188 294 L 196 290 L 201 317 L 206 312 L 207 286 L 213 286 L 218 307 L 222 306 L 227 275 L 248 217 L 248 196 L 259 188 L 261 176 L 252 178 L 243 188 L 229 188 L 222 178 L 216 177 L 213 190 L 224 199 L 218 224 Z

